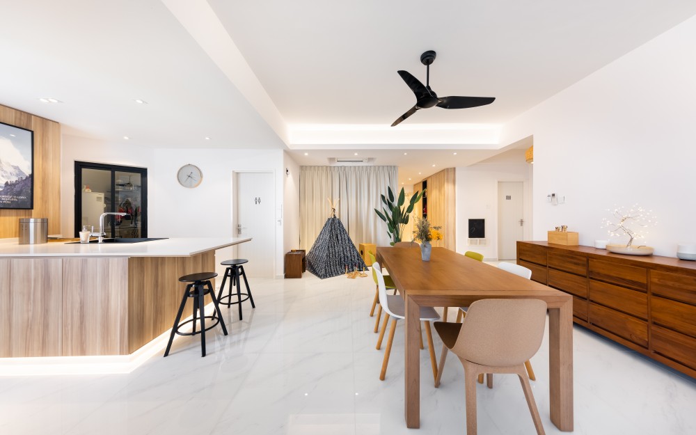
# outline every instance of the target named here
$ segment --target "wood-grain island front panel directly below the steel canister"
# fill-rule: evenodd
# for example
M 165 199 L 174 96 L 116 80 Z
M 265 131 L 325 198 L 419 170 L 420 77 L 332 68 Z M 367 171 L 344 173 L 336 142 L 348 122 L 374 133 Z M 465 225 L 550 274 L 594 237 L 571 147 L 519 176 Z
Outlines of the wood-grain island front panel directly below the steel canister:
M 10 260 L 10 353 L 61 356 L 63 260 Z

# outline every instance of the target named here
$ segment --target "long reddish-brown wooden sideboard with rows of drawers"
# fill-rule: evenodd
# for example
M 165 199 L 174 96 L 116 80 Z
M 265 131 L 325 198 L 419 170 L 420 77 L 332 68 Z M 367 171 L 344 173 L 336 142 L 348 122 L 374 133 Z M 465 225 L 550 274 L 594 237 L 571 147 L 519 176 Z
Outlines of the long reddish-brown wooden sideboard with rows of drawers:
M 517 242 L 517 263 L 573 295 L 577 324 L 696 377 L 696 262 Z

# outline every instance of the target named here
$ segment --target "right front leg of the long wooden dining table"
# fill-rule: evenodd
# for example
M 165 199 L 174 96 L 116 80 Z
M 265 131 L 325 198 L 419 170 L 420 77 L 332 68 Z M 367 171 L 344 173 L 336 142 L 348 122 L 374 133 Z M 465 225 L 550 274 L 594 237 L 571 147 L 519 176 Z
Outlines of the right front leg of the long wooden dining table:
M 573 301 L 548 310 L 548 374 L 551 421 L 573 431 Z

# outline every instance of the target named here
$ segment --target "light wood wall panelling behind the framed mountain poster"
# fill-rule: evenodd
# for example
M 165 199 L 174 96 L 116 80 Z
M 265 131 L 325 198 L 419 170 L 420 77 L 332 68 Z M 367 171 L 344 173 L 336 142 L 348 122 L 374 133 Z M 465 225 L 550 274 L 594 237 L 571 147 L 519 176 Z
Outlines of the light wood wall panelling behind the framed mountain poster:
M 61 125 L 0 105 L 0 122 L 34 132 L 34 209 L 0 209 L 0 238 L 19 235 L 19 219 L 48 218 L 49 234 L 61 232 Z

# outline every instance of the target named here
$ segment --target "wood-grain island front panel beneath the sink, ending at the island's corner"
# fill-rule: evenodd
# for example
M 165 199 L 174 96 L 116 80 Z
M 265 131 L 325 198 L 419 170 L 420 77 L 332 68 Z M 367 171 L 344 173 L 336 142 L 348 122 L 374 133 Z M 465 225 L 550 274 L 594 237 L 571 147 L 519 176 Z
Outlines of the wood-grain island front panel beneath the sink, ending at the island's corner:
M 63 355 L 127 354 L 127 258 L 63 260 Z

